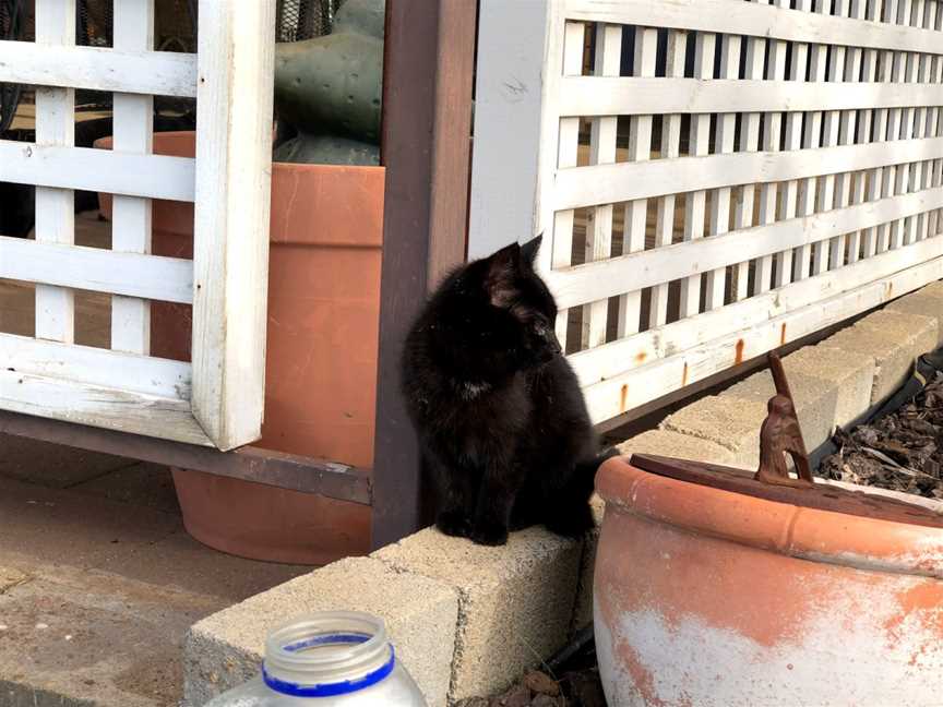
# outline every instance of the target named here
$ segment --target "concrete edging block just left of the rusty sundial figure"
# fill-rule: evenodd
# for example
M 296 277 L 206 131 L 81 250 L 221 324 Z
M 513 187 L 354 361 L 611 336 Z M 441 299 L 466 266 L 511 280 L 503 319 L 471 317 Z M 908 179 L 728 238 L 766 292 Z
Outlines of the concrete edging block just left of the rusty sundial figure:
M 661 427 L 726 448 L 731 454 L 726 463 L 729 466 L 755 469 L 760 464 L 760 426 L 765 418 L 766 400 L 709 395 L 668 416 Z

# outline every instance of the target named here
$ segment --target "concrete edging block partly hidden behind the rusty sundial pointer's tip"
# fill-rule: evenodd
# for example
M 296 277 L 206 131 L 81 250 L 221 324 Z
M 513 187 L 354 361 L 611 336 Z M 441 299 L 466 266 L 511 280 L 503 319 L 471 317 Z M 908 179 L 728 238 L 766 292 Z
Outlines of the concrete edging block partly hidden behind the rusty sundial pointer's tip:
M 805 375 L 797 371 L 795 367 L 787 368 L 785 362 L 784 368 L 789 381 L 789 390 L 792 393 L 792 400 L 796 404 L 796 415 L 799 418 L 799 427 L 802 428 L 805 447 L 810 451 L 814 450 L 831 439 L 835 430 L 838 386 L 834 381 L 829 382 Z M 720 394 L 720 399 L 735 405 L 739 405 L 740 400 L 766 405 L 774 395 L 776 395 L 776 386 L 773 383 L 773 375 L 768 370 L 764 370 L 724 391 Z M 759 420 L 760 424 L 765 417 L 764 412 Z

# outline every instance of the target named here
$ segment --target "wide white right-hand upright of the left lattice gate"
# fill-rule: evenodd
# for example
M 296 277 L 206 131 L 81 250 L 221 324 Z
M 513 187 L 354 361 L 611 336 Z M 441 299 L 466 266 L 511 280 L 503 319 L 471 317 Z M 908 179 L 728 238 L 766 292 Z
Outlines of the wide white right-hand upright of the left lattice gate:
M 223 450 L 265 396 L 275 2 L 200 4 L 193 414 Z

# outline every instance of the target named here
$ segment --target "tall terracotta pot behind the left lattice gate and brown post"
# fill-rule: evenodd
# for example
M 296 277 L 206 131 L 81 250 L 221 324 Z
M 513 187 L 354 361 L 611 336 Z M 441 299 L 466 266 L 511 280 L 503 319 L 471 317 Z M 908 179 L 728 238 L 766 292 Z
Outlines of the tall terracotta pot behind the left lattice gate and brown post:
M 110 140 L 96 146 L 110 147 Z M 192 156 L 192 132 L 154 135 Z M 256 446 L 373 463 L 384 169 L 273 165 L 265 422 Z M 110 196 L 100 195 L 110 215 Z M 191 257 L 193 205 L 155 201 L 153 252 Z M 152 352 L 189 360 L 190 308 L 152 307 Z M 370 508 L 176 469 L 187 530 L 247 558 L 325 564 L 369 550 Z

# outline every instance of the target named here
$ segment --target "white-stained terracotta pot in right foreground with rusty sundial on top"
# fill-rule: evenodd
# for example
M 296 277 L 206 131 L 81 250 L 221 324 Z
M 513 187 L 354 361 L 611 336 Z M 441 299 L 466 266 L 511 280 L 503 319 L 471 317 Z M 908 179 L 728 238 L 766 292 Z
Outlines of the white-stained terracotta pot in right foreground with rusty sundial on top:
M 922 511 L 803 507 L 624 459 L 597 490 L 611 707 L 941 704 L 943 528 Z

